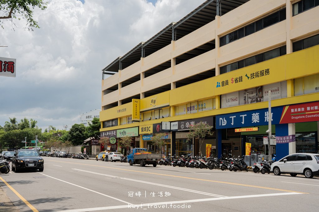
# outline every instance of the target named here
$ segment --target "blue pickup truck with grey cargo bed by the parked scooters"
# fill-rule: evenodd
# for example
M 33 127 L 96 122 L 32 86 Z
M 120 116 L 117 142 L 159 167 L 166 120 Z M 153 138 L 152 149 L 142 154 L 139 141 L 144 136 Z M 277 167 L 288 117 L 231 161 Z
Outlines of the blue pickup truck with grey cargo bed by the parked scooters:
M 133 164 L 139 164 L 140 166 L 153 164 L 156 167 L 157 162 L 162 159 L 161 154 L 143 154 L 147 152 L 145 148 L 134 148 L 131 149 L 130 153 L 127 155 L 127 162 L 130 166 Z

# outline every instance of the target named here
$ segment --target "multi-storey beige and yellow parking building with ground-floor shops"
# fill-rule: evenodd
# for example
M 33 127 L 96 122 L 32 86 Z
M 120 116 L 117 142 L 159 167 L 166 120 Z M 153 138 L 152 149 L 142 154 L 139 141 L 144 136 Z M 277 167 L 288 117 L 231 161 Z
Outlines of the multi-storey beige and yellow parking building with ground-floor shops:
M 102 70 L 101 135 L 154 151 L 152 134 L 166 132 L 165 154 L 197 154 L 186 133 L 205 121 L 219 156 L 244 154 L 245 143 L 277 157 L 318 152 L 318 5 L 205 1 Z M 269 95 L 276 139 L 264 149 Z M 246 127 L 258 131 L 235 132 Z

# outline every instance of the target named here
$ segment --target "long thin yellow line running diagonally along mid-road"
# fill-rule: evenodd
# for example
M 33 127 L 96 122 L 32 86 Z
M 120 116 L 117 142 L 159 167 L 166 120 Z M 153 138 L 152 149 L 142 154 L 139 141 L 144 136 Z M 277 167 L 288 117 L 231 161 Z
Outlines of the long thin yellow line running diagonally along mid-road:
M 53 161 L 53 160 L 48 160 L 48 161 Z M 57 161 L 55 161 L 55 162 L 57 162 Z M 86 165 L 86 166 L 95 166 L 95 167 L 102 167 L 102 168 L 111 168 L 111 169 L 118 169 L 118 170 L 123 170 L 123 171 L 138 172 L 138 173 L 145 173 L 145 174 L 155 174 L 155 175 L 168 176 L 168 177 L 177 177 L 177 178 L 184 178 L 184 179 L 190 179 L 190 180 L 217 182 L 217 183 L 224 183 L 224 184 L 230 184 L 230 185 L 247 186 L 247 187 L 253 187 L 253 188 L 264 188 L 264 189 L 270 189 L 270 190 L 276 190 L 276 191 L 297 192 L 297 193 L 301 193 L 301 194 L 308 194 L 308 193 L 300 192 L 300 191 L 291 191 L 291 190 L 284 190 L 284 189 L 279 189 L 279 188 L 269 188 L 269 187 L 263 187 L 263 186 L 254 186 L 254 185 L 240 184 L 240 183 L 234 183 L 234 182 L 206 180 L 206 179 L 193 178 L 193 177 L 183 177 L 183 176 L 177 176 L 177 175 L 171 175 L 171 174 L 159 174 L 159 173 L 153 173 L 153 172 L 144 172 L 144 171 L 123 169 L 123 168 L 115 168 L 115 167 L 105 167 L 105 166 L 83 164 L 83 163 L 73 163 L 73 162 L 65 162 L 65 161 L 58 161 L 58 162 L 61 162 L 61 163 L 72 163 L 72 164 L 79 164 L 79 165 Z

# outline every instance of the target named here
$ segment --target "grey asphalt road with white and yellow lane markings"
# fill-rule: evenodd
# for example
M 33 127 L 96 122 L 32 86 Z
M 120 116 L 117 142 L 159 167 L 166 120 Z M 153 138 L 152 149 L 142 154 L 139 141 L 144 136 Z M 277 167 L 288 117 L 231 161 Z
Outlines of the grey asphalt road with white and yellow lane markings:
M 319 179 L 302 175 L 52 157 L 44 157 L 44 163 L 43 172 L 0 175 L 0 192 L 17 210 L 314 211 L 319 206 Z

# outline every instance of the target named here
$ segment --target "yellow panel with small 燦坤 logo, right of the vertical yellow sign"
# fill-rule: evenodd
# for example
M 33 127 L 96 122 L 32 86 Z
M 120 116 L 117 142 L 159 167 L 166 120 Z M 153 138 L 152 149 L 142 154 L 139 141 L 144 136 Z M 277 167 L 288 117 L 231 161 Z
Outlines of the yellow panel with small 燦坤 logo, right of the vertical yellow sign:
M 169 91 L 146 97 L 140 100 L 140 110 L 152 110 L 154 108 L 169 105 Z

